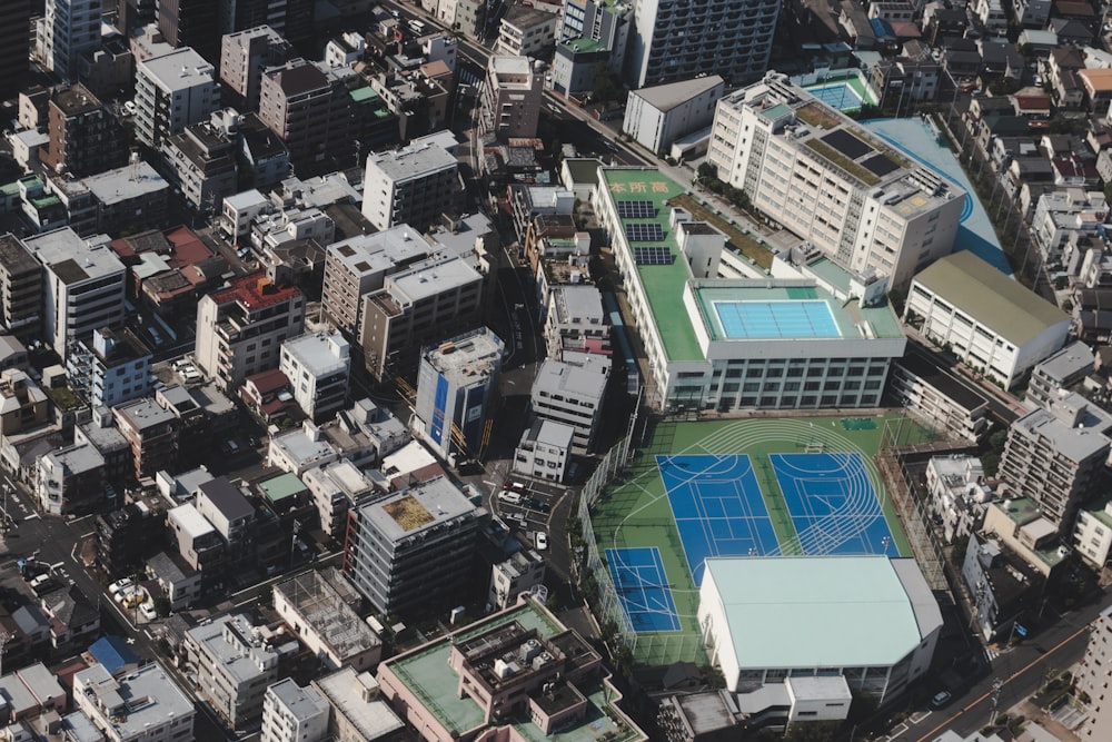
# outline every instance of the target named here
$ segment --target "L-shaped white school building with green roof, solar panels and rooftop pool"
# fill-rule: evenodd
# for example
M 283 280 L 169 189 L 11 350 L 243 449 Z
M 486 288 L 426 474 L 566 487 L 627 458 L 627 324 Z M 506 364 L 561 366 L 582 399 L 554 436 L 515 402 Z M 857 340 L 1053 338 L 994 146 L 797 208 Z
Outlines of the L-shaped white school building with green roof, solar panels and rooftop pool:
M 718 279 L 725 237 L 669 205 L 683 187 L 654 168 L 598 174 L 595 210 L 628 294 L 624 319 L 645 345 L 651 405 L 726 412 L 880 404 L 888 364 L 906 345 L 883 291 L 858 285 L 832 294 L 813 278 Z M 825 266 L 854 286 L 837 266 Z M 810 319 L 790 324 L 788 315 Z

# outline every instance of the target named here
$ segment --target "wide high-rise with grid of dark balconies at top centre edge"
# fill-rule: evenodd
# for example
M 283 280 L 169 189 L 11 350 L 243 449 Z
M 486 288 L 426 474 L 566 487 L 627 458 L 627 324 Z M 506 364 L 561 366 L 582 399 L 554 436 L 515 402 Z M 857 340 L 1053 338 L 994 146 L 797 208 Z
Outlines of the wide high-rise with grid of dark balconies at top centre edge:
M 768 66 L 780 2 L 776 0 L 644 0 L 637 3 L 626 50 L 634 88 L 701 73 L 728 85 L 761 77 Z

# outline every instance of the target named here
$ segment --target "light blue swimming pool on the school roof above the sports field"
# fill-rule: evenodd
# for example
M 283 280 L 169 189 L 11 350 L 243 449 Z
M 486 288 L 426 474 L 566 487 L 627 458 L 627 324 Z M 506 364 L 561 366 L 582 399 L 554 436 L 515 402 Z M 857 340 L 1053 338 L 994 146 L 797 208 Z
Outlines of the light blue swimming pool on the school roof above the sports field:
M 731 339 L 841 337 L 822 300 L 714 301 L 722 330 Z

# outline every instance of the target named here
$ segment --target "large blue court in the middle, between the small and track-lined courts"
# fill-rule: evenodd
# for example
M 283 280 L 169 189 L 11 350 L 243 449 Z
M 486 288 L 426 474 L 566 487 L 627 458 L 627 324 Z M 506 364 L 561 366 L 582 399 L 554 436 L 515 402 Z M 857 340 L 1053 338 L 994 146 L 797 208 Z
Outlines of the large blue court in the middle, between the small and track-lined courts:
M 778 553 L 748 456 L 657 456 L 656 466 L 696 585 L 708 556 Z

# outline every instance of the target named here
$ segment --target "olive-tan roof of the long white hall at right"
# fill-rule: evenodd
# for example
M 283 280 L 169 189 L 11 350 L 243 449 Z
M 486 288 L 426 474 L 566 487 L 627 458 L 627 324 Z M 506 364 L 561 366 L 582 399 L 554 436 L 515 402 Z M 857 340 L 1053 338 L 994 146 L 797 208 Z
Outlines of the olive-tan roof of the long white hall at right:
M 1022 347 L 1069 317 L 1017 280 L 972 253 L 953 253 L 915 276 L 914 283 L 952 303 L 977 323 Z

